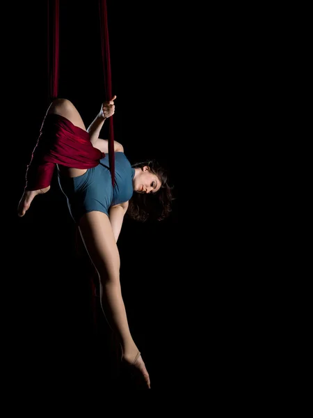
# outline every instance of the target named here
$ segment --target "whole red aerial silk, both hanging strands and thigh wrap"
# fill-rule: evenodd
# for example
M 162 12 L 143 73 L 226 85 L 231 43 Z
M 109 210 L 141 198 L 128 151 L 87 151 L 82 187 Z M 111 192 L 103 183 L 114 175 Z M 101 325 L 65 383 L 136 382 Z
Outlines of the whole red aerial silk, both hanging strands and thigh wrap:
M 49 99 L 58 96 L 59 74 L 59 0 L 48 1 L 48 78 Z M 109 31 L 106 0 L 99 0 L 101 23 L 102 63 L 106 100 L 112 98 L 111 61 L 109 52 Z M 26 171 L 27 190 L 38 190 L 50 185 L 56 164 L 77 169 L 97 166 L 104 153 L 90 143 L 88 132 L 74 126 L 61 116 L 46 116 L 40 130 L 37 144 Z M 115 180 L 113 117 L 109 118 L 109 164 L 112 185 Z

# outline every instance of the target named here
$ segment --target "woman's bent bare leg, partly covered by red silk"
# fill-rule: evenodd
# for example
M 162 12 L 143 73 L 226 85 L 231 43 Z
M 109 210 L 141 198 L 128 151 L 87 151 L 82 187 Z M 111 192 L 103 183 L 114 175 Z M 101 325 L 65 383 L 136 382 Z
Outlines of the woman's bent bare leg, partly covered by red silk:
M 53 102 L 51 102 L 47 114 L 58 114 L 65 118 L 67 118 L 70 122 L 72 122 L 75 126 L 81 127 L 81 129 L 86 130 L 86 127 L 83 123 L 83 120 L 81 118 L 81 115 L 77 111 L 76 107 L 74 107 L 74 104 L 70 102 L 70 100 L 67 99 L 56 99 Z M 65 176 L 75 177 L 75 176 L 81 176 L 81 174 L 86 173 L 86 169 L 70 169 L 65 167 L 60 167 L 63 170 L 63 173 Z M 19 201 L 18 207 L 17 207 L 17 214 L 19 217 L 22 217 L 25 215 L 26 211 L 29 210 L 29 207 L 31 206 L 31 202 L 37 196 L 38 194 L 47 193 L 50 189 L 50 186 L 45 187 L 44 189 L 39 190 L 24 190 L 24 193 L 22 194 L 22 198 Z

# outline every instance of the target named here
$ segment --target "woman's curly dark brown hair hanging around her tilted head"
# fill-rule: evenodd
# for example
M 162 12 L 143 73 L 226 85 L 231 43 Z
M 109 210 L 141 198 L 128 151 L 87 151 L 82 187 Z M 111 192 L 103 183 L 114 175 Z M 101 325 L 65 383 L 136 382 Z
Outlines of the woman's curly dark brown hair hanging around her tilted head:
M 168 173 L 164 167 L 161 167 L 156 160 L 147 160 L 145 162 L 137 162 L 131 167 L 143 168 L 150 167 L 150 171 L 154 173 L 161 181 L 161 187 L 154 194 L 134 193 L 129 200 L 127 216 L 136 221 L 145 222 L 147 219 L 161 221 L 166 219 L 172 211 L 172 195 L 173 187 L 168 185 Z

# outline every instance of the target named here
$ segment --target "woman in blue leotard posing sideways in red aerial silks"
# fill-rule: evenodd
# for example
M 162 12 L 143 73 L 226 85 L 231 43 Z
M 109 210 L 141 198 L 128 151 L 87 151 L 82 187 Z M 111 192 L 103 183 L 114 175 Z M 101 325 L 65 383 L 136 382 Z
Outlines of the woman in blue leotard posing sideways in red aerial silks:
M 122 145 L 116 141 L 115 184 L 112 186 L 108 141 L 99 139 L 99 132 L 106 118 L 115 112 L 115 98 L 102 104 L 87 130 L 70 100 L 56 99 L 51 103 L 27 169 L 27 182 L 19 201 L 18 215 L 24 216 L 34 197 L 49 190 L 58 162 L 58 182 L 97 270 L 102 310 L 120 341 L 122 362 L 141 376 L 150 388 L 149 374 L 127 323 L 116 242 L 127 211 L 134 219 L 145 220 L 152 207 L 161 208 L 158 219 L 163 219 L 170 212 L 172 195 L 166 183 L 166 173 L 161 167 L 154 162 L 131 167 Z M 136 202 L 133 192 L 139 196 Z M 149 206 L 146 199 L 148 194 L 156 199 L 153 206 Z M 141 203 L 144 204 L 143 209 Z

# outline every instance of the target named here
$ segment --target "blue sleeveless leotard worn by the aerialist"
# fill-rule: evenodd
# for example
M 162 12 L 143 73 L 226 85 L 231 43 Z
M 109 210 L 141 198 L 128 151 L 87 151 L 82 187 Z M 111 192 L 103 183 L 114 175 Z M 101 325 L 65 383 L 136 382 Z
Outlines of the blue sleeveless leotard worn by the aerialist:
M 86 212 L 98 210 L 109 215 L 109 208 L 129 201 L 133 195 L 135 169 L 124 153 L 115 153 L 115 184 L 112 186 L 109 155 L 97 167 L 88 169 L 78 177 L 65 177 L 58 173 L 58 184 L 67 199 L 70 215 L 75 222 Z

